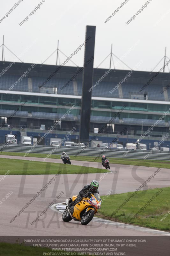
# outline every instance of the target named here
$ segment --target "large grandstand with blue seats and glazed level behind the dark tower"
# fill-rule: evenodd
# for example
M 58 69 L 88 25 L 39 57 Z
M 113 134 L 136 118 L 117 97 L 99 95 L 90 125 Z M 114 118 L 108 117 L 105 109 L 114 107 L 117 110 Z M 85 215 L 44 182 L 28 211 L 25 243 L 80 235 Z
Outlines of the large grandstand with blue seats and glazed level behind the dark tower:
M 31 64 L 15 63 L 3 74 L 2 71 L 9 64 L 10 62 L 0 61 L 1 124 L 4 122 L 3 117 L 12 115 L 23 102 L 26 102 L 22 110 L 17 111 L 15 116 L 8 121 L 8 124 L 19 127 L 26 123 L 30 129 L 30 136 L 38 136 L 37 134 L 41 132 L 41 124 L 45 124 L 45 128 L 48 129 L 74 105 L 74 109 L 65 116 L 61 125 L 57 125 L 54 132 L 62 137 L 61 131 L 69 131 L 73 126 L 79 132 L 82 72 L 78 74 L 77 78 L 70 81 L 79 68 L 64 66 L 47 81 L 56 66 L 36 64 L 25 77 L 20 79 Z M 106 71 L 106 69 L 94 68 L 93 84 Z M 169 73 L 160 73 L 151 84 L 141 91 L 141 88 L 154 73 L 134 71 L 126 82 L 120 84 L 113 93 L 110 93 L 128 72 L 129 70 L 113 69 L 92 90 L 90 131 L 94 132 L 94 128 L 101 129 L 103 124 L 108 123 L 111 118 L 113 119 L 114 132 L 113 126 L 107 125 L 103 132 L 105 134 L 103 135 L 103 142 L 109 140 L 106 134 L 112 134 L 113 136 L 113 133 L 119 133 L 124 127 L 127 128 L 127 134 L 124 135 L 139 136 L 141 131 L 147 131 L 148 127 L 154 124 L 170 108 L 169 90 L 161 93 L 168 84 Z M 20 81 L 16 82 L 18 79 Z M 63 87 L 68 81 L 70 83 Z M 14 86 L 11 87 L 12 85 Z M 10 87 L 11 89 L 9 89 Z M 121 111 L 123 106 L 125 108 Z M 114 118 L 116 113 L 117 116 Z M 154 127 L 151 135 L 162 137 L 163 134 L 168 132 L 169 126 L 170 115 L 167 114 Z M 31 132 L 33 127 L 37 129 L 34 133 Z M 55 135 L 53 134 L 53 136 Z M 72 139 L 75 140 L 76 136 L 78 136 L 78 133 L 75 132 Z M 124 140 L 122 138 L 123 142 L 125 140 L 127 141 L 127 138 L 124 138 Z M 47 141 L 44 141 L 44 144 L 47 145 Z

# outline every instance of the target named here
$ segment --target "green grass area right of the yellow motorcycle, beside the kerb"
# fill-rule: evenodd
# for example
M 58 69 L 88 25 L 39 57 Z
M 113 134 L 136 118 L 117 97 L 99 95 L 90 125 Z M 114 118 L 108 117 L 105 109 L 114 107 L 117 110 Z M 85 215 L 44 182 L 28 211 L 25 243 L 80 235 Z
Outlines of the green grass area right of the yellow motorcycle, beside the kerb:
M 133 193 L 101 196 L 103 202 L 97 217 L 170 231 L 170 187 L 138 191 L 131 196 Z

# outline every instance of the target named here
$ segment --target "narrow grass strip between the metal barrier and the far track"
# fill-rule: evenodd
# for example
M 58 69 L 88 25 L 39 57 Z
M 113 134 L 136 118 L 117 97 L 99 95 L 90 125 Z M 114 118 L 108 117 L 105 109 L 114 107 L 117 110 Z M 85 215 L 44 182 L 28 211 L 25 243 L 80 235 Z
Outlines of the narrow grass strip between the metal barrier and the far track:
M 23 153 L 16 152 L 2 152 L 1 155 L 8 156 L 23 156 Z M 47 154 L 37 154 L 29 153 L 28 157 L 41 157 L 44 158 Z M 51 155 L 50 158 L 60 158 L 61 155 Z M 70 160 L 77 161 L 89 161 L 94 162 L 94 156 L 71 156 Z M 170 168 L 170 161 L 162 160 L 144 160 L 144 159 L 126 159 L 126 158 L 109 158 L 111 164 L 126 164 L 126 165 L 137 165 L 137 166 L 148 166 L 148 167 L 160 167 L 160 168 Z M 101 158 L 99 158 L 96 163 L 101 163 Z

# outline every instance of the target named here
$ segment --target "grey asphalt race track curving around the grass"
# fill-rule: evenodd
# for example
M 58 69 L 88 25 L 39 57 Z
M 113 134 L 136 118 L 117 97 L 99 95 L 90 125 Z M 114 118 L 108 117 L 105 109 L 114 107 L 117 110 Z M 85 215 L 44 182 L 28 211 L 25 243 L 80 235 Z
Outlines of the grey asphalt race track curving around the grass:
M 21 156 L 0 156 L 0 158 L 24 159 L 32 161 L 42 161 L 37 157 Z M 60 159 L 48 159 L 46 162 L 61 163 Z M 101 164 L 84 161 L 72 161 L 74 165 L 85 165 L 89 167 L 99 167 Z M 0 234 L 1 236 L 169 236 L 170 233 L 157 231 L 149 228 L 142 228 L 133 225 L 126 225 L 117 222 L 107 222 L 103 220 L 91 221 L 87 226 L 82 226 L 80 222 L 71 220 L 65 223 L 62 220 L 62 213 L 47 208 L 49 204 L 57 204 L 65 201 L 73 194 L 78 194 L 80 189 L 96 179 L 100 181 L 100 195 L 107 193 L 124 193 L 135 191 L 145 180 L 158 169 L 154 167 L 141 167 L 121 164 L 110 164 L 111 173 L 98 174 L 68 174 L 58 175 L 54 180 L 54 175 L 8 175 L 0 182 Z M 81 167 L 80 167 L 81 168 Z M 2 175 L 0 176 L 0 178 Z M 27 202 L 33 198 L 38 191 L 43 188 L 49 180 L 48 186 L 27 208 L 19 213 Z M 154 175 L 145 189 L 163 188 L 170 185 L 170 171 L 163 169 Z M 8 193 L 12 194 L 6 198 Z M 112 192 L 110 192 L 112 191 Z M 56 198 L 58 196 L 58 199 Z M 61 196 L 61 197 L 60 197 Z M 60 197 L 60 198 L 59 198 Z M 4 201 L 3 198 L 6 198 Z M 54 200 L 56 200 L 54 202 Z M 114 203 L 114 202 L 113 202 Z M 40 217 L 35 224 L 35 220 L 43 210 L 47 213 Z

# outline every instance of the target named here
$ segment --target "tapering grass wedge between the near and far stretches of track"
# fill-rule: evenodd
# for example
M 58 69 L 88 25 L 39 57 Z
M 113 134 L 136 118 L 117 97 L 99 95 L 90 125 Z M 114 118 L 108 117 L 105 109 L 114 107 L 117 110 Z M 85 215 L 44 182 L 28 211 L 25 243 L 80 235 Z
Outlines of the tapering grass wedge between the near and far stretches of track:
M 4 175 L 8 170 L 10 170 L 9 175 L 46 174 L 46 168 L 49 170 L 47 174 L 56 174 L 59 171 L 61 174 L 106 172 L 106 169 L 78 166 L 73 164 L 55 164 L 6 158 L 0 158 L 0 166 L 0 175 Z

